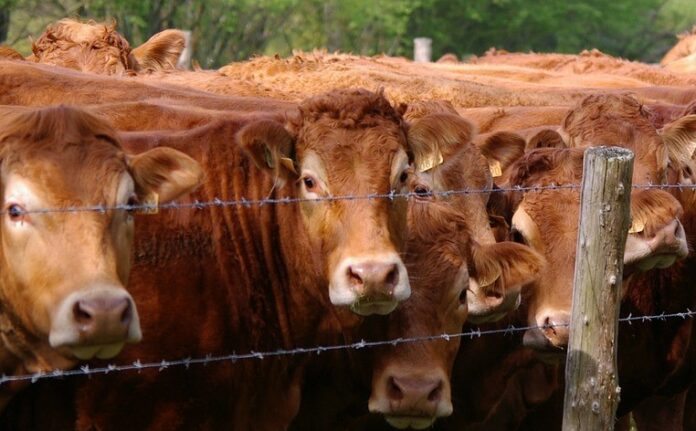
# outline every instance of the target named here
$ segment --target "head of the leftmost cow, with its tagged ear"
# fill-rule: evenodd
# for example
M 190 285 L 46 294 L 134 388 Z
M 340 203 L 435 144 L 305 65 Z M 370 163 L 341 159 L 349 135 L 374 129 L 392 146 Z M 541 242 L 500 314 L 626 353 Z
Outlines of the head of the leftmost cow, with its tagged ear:
M 166 202 L 197 186 L 201 169 L 171 149 L 127 157 L 108 126 L 76 109 L 13 111 L 0 125 L 3 311 L 63 357 L 113 357 L 141 339 L 125 289 L 133 214 L 69 208 Z M 51 366 L 40 359 L 27 368 Z

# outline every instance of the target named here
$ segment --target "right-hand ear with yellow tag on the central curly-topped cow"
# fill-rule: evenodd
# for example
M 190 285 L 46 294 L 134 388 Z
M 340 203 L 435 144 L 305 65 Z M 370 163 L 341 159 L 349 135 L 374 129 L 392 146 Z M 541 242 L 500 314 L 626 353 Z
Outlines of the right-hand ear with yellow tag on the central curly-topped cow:
M 459 115 L 430 114 L 410 124 L 408 145 L 418 172 L 441 165 L 461 145 L 471 142 L 474 126 Z

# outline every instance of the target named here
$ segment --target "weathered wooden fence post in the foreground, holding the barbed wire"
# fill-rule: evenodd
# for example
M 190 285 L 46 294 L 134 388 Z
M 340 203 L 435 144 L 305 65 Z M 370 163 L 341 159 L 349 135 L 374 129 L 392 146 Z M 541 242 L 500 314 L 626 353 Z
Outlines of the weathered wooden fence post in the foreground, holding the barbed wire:
M 585 152 L 563 431 L 614 429 L 621 393 L 616 334 L 632 173 L 630 150 Z

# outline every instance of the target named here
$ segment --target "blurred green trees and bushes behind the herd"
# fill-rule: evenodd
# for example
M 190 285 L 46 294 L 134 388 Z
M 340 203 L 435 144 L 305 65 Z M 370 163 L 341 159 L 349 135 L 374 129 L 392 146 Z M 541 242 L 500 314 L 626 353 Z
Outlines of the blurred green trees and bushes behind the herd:
M 412 56 L 414 37 L 433 56 L 599 50 L 656 62 L 696 24 L 694 0 L 0 0 L 0 43 L 23 54 L 30 36 L 64 17 L 115 19 L 133 46 L 165 28 L 193 32 L 206 68 L 254 54 L 327 48 Z

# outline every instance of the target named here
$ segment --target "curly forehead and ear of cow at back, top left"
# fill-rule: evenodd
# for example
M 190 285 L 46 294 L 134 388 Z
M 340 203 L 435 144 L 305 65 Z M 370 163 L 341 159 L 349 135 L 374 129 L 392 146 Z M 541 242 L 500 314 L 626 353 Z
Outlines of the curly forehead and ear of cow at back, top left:
M 176 67 L 185 42 L 181 30 L 165 30 L 131 50 L 113 22 L 62 19 L 32 43 L 31 60 L 103 75 L 167 70 Z

